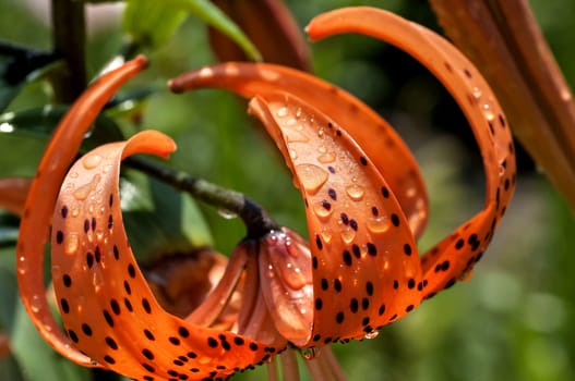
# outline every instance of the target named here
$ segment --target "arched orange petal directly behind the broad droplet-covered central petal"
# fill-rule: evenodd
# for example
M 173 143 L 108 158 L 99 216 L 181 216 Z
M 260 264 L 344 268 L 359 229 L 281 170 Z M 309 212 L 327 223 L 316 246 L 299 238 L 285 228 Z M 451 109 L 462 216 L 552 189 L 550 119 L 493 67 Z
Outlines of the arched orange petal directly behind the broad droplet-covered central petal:
M 428 198 L 419 167 L 409 148 L 378 113 L 345 90 L 313 75 L 273 64 L 228 62 L 170 81 L 173 91 L 221 87 L 243 97 L 285 90 L 313 105 L 357 142 L 394 189 L 409 225 L 419 236 L 428 218 Z M 297 123 L 297 120 L 294 121 Z M 322 160 L 328 162 L 325 156 Z

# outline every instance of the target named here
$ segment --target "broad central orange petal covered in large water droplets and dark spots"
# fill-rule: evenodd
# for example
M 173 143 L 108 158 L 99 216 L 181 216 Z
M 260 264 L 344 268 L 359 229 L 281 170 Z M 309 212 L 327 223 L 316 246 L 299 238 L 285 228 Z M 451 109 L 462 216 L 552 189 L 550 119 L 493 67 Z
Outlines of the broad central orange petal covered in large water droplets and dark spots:
M 414 309 L 421 299 L 415 238 L 370 157 L 345 128 L 292 95 L 256 97 L 250 111 L 275 139 L 306 200 L 313 330 L 296 344 L 362 339 Z M 326 162 L 326 155 L 333 159 Z

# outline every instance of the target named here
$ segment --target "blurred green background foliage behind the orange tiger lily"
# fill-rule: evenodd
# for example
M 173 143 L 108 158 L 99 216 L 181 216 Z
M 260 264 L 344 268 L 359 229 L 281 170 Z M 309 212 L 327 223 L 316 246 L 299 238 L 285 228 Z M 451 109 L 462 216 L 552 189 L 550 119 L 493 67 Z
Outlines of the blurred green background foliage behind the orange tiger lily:
M 372 4 L 441 30 L 423 1 L 287 3 L 301 26 L 333 8 Z M 575 2 L 530 3 L 573 86 Z M 46 10 L 34 13 L 24 4 L 20 0 L 0 2 L 0 39 L 48 49 L 48 26 L 39 16 Z M 89 34 L 91 74 L 118 51 L 122 41 L 118 19 L 105 16 L 99 22 Z M 483 174 L 470 131 L 454 101 L 426 70 L 396 49 L 367 37 L 334 37 L 311 49 L 315 73 L 385 115 L 418 158 L 431 199 L 431 220 L 420 242 L 421 250 L 481 208 Z M 169 44 L 148 56 L 152 67 L 135 83 L 163 84 L 214 62 L 205 25 L 193 17 Z M 25 110 L 46 99 L 41 84 L 28 86 L 10 110 Z M 165 131 L 178 143 L 179 150 L 170 161 L 173 167 L 243 192 L 280 224 L 306 232 L 303 205 L 283 160 L 237 98 L 220 90 L 178 96 L 166 90 L 151 97 L 144 110 L 143 126 Z M 0 135 L 0 175 L 32 175 L 44 143 Z M 575 220 L 524 153 L 518 165 L 515 197 L 470 281 L 458 283 L 402 321 L 385 327 L 375 340 L 334 346 L 350 380 L 575 380 Z M 243 236 L 242 224 L 221 218 L 212 207 L 201 208 L 215 246 L 230 253 Z M 14 225 L 14 221 L 9 222 Z M 22 309 L 13 307 L 17 306 L 13 248 L 2 248 L 0 259 L 0 300 L 4 304 L 0 306 L 0 321 L 25 337 L 21 342 L 27 344 L 14 348 L 17 358 L 39 353 L 43 346 L 35 331 Z M 63 365 L 49 349 L 41 353 L 45 362 L 38 368 L 51 369 L 46 371 L 53 372 L 56 379 L 89 379 L 86 372 Z M 0 380 L 40 381 L 26 378 L 19 361 L 13 357 L 0 359 Z M 49 377 L 46 373 L 41 381 Z M 98 377 L 117 380 L 112 374 Z M 235 378 L 265 379 L 264 369 Z

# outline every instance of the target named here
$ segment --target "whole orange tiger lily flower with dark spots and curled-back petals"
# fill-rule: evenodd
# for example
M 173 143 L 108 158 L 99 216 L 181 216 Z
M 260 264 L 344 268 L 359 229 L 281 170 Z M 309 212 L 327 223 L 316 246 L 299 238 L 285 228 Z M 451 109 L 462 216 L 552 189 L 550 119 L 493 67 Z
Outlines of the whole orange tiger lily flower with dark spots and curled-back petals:
M 248 234 L 205 300 L 185 317 L 169 314 L 131 251 L 118 177 L 122 159 L 166 157 L 173 142 L 142 132 L 96 148 L 65 175 L 106 100 L 145 66 L 139 58 L 99 78 L 74 103 L 49 143 L 24 208 L 19 285 L 36 328 L 59 353 L 137 380 L 224 380 L 279 354 L 285 379 L 298 380 L 292 352 L 284 349 L 323 347 L 307 362 L 312 377 L 344 379 L 328 344 L 374 337 L 468 275 L 513 193 L 505 118 L 479 72 L 432 32 L 370 8 L 328 12 L 308 27 L 312 39 L 347 32 L 398 46 L 450 89 L 481 149 L 484 209 L 420 258 L 424 185 L 406 145 L 376 113 L 333 85 L 277 65 L 226 63 L 188 73 L 171 81 L 173 90 L 219 86 L 251 99 L 249 111 L 275 140 L 302 194 L 311 243 L 281 226 Z M 44 296 L 50 217 L 52 282 L 65 335 Z M 235 292 L 239 309 L 225 312 Z M 223 322 L 221 314 L 231 320 Z

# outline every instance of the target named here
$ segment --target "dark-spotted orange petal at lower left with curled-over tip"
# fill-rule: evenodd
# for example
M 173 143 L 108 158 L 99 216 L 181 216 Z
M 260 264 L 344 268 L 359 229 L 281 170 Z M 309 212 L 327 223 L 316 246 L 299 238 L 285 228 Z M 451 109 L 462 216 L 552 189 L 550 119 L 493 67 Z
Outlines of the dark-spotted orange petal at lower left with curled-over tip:
M 98 147 L 70 169 L 52 222 L 53 286 L 73 345 L 106 368 L 143 380 L 226 378 L 261 361 L 266 345 L 166 312 L 123 229 L 121 159 L 175 148 L 146 131 Z

